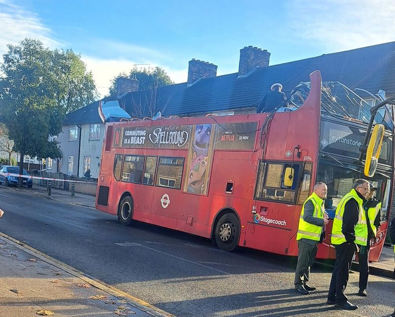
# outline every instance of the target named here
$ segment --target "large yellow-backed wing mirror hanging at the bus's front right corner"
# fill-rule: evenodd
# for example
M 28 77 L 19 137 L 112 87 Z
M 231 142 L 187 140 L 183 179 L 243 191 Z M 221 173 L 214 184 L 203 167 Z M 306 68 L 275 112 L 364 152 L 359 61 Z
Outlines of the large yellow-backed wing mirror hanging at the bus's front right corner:
M 372 177 L 376 172 L 381 146 L 383 145 L 384 130 L 385 128 L 383 124 L 376 124 L 373 129 L 372 136 L 366 150 L 364 174 L 367 177 Z

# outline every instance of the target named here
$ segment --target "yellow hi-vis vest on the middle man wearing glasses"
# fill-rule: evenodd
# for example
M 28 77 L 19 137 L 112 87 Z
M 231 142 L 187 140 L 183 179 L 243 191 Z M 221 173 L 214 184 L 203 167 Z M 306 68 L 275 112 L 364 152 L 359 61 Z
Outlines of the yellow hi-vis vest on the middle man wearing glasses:
M 344 214 L 344 205 L 350 199 L 355 199 L 358 203 L 358 222 L 354 227 L 355 233 L 355 243 L 361 246 L 366 246 L 368 241 L 368 226 L 366 224 L 366 215 L 363 210 L 362 204 L 363 200 L 359 198 L 355 189 L 351 189 L 351 191 L 340 200 L 338 207 L 336 208 L 335 219 L 333 220 L 332 226 L 332 238 L 331 242 L 334 245 L 342 244 L 346 242 L 343 233 L 341 232 L 341 227 L 343 225 L 343 214 Z

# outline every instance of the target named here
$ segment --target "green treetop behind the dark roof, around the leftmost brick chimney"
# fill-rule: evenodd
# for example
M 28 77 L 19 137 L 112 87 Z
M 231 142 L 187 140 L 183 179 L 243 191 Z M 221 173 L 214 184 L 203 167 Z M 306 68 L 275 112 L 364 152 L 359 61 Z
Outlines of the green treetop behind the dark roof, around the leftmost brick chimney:
M 174 82 L 170 79 L 166 71 L 161 67 L 148 67 L 148 68 L 138 69 L 137 66 L 134 66 L 130 70 L 129 75 L 123 72 L 113 78 L 110 86 L 110 96 L 116 94 L 116 80 L 119 77 L 137 79 L 139 81 L 139 90 L 144 90 L 144 89 L 156 90 L 160 86 L 174 84 Z

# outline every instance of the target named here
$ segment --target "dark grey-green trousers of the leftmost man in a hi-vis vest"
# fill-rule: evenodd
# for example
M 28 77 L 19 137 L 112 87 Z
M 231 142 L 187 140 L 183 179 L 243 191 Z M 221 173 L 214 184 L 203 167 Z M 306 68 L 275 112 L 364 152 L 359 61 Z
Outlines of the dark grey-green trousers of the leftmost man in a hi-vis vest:
M 298 263 L 295 272 L 295 288 L 306 284 L 309 281 L 310 266 L 313 265 L 317 256 L 318 241 L 315 244 L 309 244 L 303 240 L 298 241 Z

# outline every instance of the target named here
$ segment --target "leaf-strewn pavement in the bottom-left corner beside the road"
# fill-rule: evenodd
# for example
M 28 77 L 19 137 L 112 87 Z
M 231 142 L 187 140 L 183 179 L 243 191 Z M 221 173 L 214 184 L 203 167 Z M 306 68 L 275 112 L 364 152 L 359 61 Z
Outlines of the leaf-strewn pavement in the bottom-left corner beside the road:
M 0 235 L 0 317 L 172 316 Z

